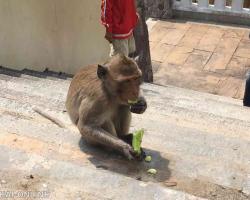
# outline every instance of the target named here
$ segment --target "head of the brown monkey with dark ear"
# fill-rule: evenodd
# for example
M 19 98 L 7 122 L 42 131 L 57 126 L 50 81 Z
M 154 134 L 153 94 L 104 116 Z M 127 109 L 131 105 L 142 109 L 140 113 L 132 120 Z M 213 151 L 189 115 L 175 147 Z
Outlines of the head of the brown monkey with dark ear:
M 117 96 L 121 104 L 137 100 L 142 72 L 133 59 L 121 54 L 113 56 L 104 65 L 98 65 L 97 76 L 106 91 Z

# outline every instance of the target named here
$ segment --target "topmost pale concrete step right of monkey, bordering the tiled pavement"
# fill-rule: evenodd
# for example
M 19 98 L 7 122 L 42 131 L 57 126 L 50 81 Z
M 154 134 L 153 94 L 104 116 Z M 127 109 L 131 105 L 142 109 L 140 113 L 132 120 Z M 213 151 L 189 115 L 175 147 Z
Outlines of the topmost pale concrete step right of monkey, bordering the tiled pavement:
M 174 86 L 147 84 L 143 88 L 145 92 L 150 94 L 150 98 L 161 100 L 162 104 L 165 105 L 171 103 L 173 106 L 250 121 L 249 109 L 242 106 L 241 100 Z

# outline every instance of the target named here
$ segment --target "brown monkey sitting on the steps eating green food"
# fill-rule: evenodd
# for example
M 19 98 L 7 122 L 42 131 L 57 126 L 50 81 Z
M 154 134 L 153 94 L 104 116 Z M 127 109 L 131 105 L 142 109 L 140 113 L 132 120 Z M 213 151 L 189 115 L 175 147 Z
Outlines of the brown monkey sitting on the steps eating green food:
M 119 151 L 129 160 L 137 159 L 129 127 L 131 112 L 142 114 L 147 108 L 141 84 L 138 65 L 122 54 L 103 65 L 79 70 L 70 83 L 65 106 L 83 139 Z M 137 103 L 131 106 L 128 100 Z

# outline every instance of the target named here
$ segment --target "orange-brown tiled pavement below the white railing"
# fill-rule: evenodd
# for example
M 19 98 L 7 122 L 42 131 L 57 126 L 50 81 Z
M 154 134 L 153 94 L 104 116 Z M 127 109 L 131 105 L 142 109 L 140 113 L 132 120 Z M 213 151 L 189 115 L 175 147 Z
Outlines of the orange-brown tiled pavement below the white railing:
M 242 99 L 250 28 L 148 21 L 154 82 Z

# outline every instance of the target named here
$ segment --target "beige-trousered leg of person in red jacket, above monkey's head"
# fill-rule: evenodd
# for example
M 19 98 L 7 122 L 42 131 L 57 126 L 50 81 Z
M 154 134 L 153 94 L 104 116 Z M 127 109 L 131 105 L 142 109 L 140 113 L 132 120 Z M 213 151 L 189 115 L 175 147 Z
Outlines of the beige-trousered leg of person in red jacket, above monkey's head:
M 129 54 L 128 39 L 114 39 L 112 41 L 110 56 L 112 57 L 118 53 L 128 56 Z

